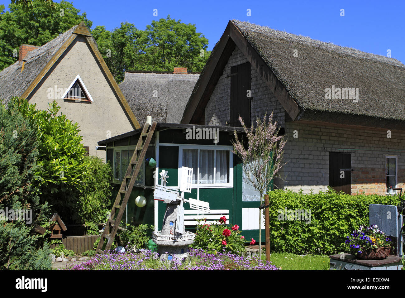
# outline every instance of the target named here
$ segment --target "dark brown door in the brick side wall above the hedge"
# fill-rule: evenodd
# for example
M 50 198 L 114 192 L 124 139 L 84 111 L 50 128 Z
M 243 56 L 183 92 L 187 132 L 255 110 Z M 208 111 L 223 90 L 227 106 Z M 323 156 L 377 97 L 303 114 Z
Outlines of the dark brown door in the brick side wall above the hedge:
M 352 193 L 352 154 L 329 152 L 329 186 Z

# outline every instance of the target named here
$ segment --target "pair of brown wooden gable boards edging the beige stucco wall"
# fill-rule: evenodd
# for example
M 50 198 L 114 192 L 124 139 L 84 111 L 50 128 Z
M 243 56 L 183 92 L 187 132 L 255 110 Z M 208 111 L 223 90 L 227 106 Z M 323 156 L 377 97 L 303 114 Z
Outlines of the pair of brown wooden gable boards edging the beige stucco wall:
M 118 87 L 117 82 L 115 81 L 113 75 L 111 74 L 111 71 L 109 70 L 107 64 L 104 62 L 104 59 L 102 58 L 100 51 L 98 51 L 97 45 L 94 42 L 94 39 L 92 35 L 90 34 L 89 30 L 87 29 L 87 26 L 84 24 L 84 22 L 81 22 L 75 30 L 71 33 L 68 39 L 63 43 L 63 45 L 58 49 L 58 51 L 53 54 L 53 56 L 49 59 L 45 67 L 40 71 L 40 73 L 35 77 L 35 79 L 32 81 L 30 86 L 23 92 L 21 95 L 22 98 L 27 98 L 30 96 L 32 91 L 35 89 L 35 87 L 40 83 L 40 81 L 45 77 L 45 75 L 48 73 L 48 71 L 52 68 L 53 64 L 55 64 L 56 61 L 62 56 L 62 54 L 66 51 L 66 49 L 69 47 L 69 45 L 76 39 L 78 35 L 85 36 L 85 41 L 87 45 L 90 47 L 90 51 L 92 52 L 94 58 L 96 59 L 98 65 L 100 66 L 100 69 L 104 76 L 107 78 L 107 81 L 109 85 L 111 86 L 111 89 L 113 90 L 113 93 L 115 96 L 117 96 L 119 104 L 121 105 L 122 109 L 124 110 L 124 113 L 130 120 L 130 123 L 134 129 L 138 129 L 141 126 L 139 125 L 138 120 L 136 120 L 136 117 L 134 113 L 132 112 L 130 106 L 128 105 L 124 94 L 122 94 L 121 90 Z

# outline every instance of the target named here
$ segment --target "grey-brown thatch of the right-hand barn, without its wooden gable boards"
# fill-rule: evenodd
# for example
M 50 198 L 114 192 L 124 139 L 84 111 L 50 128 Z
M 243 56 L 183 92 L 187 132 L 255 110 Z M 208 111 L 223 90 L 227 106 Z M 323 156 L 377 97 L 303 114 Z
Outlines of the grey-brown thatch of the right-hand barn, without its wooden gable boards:
M 296 102 L 301 112 L 294 120 L 326 112 L 405 121 L 405 66 L 398 60 L 248 22 L 232 20 L 230 24 L 236 26 L 241 38 L 246 39 Z M 196 106 L 192 104 L 193 96 L 202 77 L 212 75 L 205 71 L 194 87 L 188 107 Z M 358 102 L 325 99 L 325 89 L 332 86 L 358 88 Z

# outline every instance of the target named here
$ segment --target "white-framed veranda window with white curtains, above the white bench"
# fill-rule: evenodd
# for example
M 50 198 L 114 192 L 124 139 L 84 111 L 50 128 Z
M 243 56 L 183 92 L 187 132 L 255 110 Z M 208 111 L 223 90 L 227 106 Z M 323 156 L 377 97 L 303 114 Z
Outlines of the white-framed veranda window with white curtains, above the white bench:
M 181 166 L 193 168 L 193 184 L 232 184 L 230 150 L 183 148 L 181 162 Z

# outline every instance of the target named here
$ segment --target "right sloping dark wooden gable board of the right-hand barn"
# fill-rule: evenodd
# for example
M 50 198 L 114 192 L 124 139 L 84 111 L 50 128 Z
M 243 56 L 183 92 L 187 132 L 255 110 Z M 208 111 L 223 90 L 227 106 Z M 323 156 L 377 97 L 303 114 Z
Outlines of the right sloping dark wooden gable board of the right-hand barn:
M 286 88 L 284 88 L 283 84 L 279 81 L 279 79 L 277 79 L 266 62 L 264 62 L 257 51 L 245 39 L 237 26 L 235 26 L 232 21 L 229 21 L 228 26 L 230 27 L 230 38 L 242 51 L 243 55 L 245 55 L 250 64 L 252 64 L 252 67 L 256 69 L 266 85 L 274 92 L 283 108 L 287 111 L 288 115 L 293 120 L 296 119 L 300 112 L 300 108 L 298 107 L 297 103 L 294 101 L 294 99 L 292 99 L 290 94 L 288 94 Z

